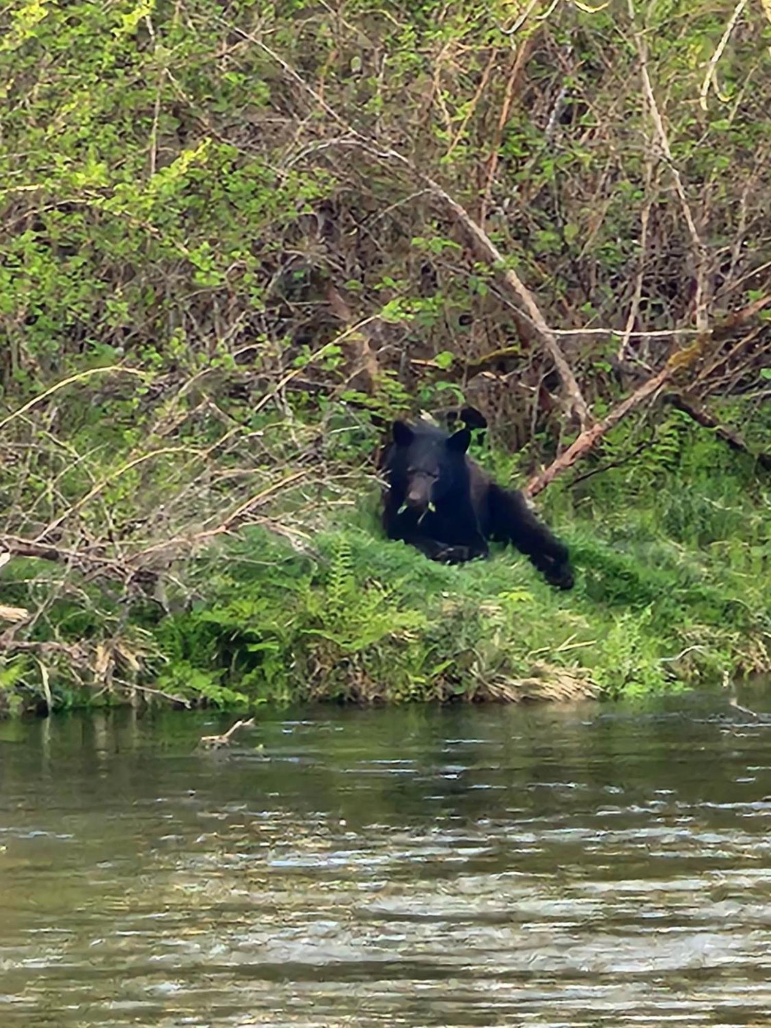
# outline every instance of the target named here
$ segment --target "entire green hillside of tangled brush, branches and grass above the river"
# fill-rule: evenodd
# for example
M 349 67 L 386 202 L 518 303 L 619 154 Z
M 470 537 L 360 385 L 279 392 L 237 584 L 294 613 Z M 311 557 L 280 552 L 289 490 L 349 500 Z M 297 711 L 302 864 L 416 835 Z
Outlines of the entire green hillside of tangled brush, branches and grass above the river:
M 9 701 L 769 669 L 770 46 L 765 0 L 6 6 Z M 570 597 L 378 538 L 383 426 L 464 402 Z

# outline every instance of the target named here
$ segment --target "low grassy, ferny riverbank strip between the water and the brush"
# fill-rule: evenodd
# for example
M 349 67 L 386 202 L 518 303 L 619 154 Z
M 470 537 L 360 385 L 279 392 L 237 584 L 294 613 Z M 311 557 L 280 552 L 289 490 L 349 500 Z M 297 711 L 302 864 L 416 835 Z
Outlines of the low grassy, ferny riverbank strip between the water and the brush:
M 719 440 L 681 436 L 669 467 L 652 449 L 544 497 L 570 593 L 511 551 L 443 566 L 388 542 L 364 480 L 314 530 L 295 521 L 294 545 L 253 525 L 178 561 L 163 604 L 87 575 L 59 594 L 59 573 L 14 559 L 4 601 L 48 592 L 3 705 L 613 698 L 768 671 L 767 485 Z

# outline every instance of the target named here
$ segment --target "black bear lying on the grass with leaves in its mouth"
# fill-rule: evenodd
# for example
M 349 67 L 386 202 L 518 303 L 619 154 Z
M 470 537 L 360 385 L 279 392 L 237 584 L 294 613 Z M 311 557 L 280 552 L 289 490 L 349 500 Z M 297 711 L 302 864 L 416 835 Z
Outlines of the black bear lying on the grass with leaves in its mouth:
M 573 588 L 567 548 L 521 492 L 503 489 L 466 455 L 468 428 L 448 435 L 428 423 L 394 421 L 392 431 L 381 461 L 389 539 L 446 563 L 487 556 L 488 540 L 511 543 L 551 585 Z

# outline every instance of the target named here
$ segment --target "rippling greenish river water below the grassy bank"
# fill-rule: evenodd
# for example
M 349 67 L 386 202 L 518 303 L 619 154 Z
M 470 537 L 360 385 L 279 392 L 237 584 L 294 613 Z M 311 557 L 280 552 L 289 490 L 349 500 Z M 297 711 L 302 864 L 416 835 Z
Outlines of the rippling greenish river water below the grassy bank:
M 771 1025 L 725 696 L 231 721 L 0 724 L 3 1028 Z

